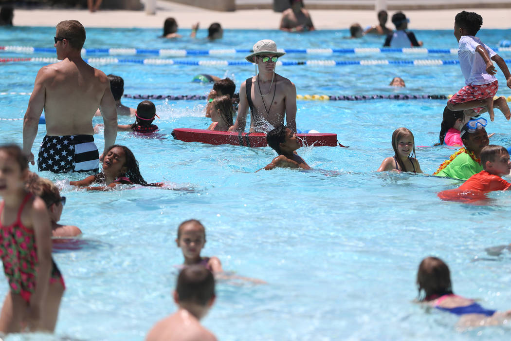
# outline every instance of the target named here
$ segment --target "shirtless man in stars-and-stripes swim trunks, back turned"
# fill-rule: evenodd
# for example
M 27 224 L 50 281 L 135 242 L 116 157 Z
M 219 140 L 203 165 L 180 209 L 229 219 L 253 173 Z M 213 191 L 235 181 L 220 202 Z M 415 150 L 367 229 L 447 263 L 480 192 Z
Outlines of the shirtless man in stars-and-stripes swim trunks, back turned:
M 44 109 L 47 135 L 37 158 L 39 171 L 98 171 L 99 152 L 92 128 L 98 107 L 105 124 L 105 150 L 115 143 L 117 113 L 110 83 L 103 72 L 83 61 L 84 41 L 80 22 L 59 22 L 55 48 L 62 61 L 43 66 L 37 73 L 23 122 L 23 151 L 34 165 L 32 145 Z

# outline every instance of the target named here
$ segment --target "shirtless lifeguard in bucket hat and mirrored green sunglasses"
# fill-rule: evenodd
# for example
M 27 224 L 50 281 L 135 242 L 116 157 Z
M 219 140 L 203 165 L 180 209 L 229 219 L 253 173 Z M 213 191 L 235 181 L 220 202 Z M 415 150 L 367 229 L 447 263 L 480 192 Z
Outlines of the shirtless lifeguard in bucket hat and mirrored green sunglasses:
M 257 64 L 259 74 L 241 84 L 235 131 L 245 130 L 250 108 L 250 131 L 268 132 L 283 125 L 285 117 L 287 126 L 296 132 L 296 87 L 289 79 L 275 73 L 277 58 L 283 55 L 284 52 L 277 52 L 273 40 L 265 39 L 255 43 L 253 53 L 246 57 Z

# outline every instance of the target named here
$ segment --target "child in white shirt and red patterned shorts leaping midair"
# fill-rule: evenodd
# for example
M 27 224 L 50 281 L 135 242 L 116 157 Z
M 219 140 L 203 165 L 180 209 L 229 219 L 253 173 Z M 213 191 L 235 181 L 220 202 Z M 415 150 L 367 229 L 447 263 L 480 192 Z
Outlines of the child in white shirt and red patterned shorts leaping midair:
M 462 11 L 456 14 L 454 36 L 458 40 L 459 65 L 467 85 L 463 86 L 447 102 L 447 106 L 451 110 L 468 110 L 465 112 L 467 116 L 473 116 L 473 111 L 470 109 L 474 109 L 476 114 L 487 110 L 492 121 L 495 107 L 500 109 L 505 118 L 509 120 L 511 113 L 506 99 L 499 97 L 495 101 L 493 100 L 499 83 L 494 76 L 497 70 L 495 70 L 492 60 L 499 65 L 509 88 L 511 88 L 511 74 L 504 59 L 486 46 L 481 39 L 475 37 L 481 25 L 482 17 L 475 12 Z

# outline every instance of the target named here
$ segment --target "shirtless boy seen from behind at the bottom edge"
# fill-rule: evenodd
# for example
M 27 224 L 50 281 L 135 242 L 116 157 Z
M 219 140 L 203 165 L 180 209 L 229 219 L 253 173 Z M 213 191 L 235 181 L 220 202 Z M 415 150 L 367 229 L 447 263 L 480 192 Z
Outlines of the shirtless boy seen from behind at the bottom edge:
M 146 341 L 216 341 L 215 335 L 200 325 L 215 302 L 215 278 L 202 265 L 186 266 L 179 272 L 174 291 L 179 309 L 156 323 Z

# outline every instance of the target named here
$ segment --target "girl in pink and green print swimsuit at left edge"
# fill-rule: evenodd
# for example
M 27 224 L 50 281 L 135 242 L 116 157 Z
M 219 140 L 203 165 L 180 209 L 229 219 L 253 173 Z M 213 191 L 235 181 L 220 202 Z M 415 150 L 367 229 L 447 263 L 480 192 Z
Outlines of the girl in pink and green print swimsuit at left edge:
M 27 158 L 15 145 L 0 146 L 0 258 L 9 282 L 0 331 L 53 331 L 64 282 L 52 260 L 46 204 L 24 188 Z

